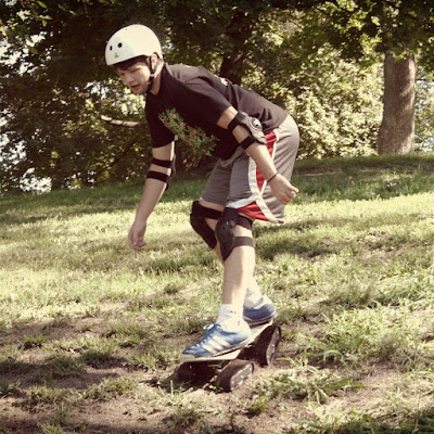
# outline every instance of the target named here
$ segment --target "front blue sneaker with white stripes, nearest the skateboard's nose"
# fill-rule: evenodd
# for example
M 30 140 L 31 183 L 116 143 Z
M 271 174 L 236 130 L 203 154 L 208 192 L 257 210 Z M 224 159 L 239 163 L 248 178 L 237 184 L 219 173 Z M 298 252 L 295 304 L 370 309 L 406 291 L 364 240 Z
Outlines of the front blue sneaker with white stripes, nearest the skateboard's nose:
M 244 321 L 240 321 L 240 326 L 235 332 L 227 332 L 220 324 L 205 326 L 204 336 L 183 350 L 182 359 L 210 358 L 242 348 L 250 342 L 252 331 Z

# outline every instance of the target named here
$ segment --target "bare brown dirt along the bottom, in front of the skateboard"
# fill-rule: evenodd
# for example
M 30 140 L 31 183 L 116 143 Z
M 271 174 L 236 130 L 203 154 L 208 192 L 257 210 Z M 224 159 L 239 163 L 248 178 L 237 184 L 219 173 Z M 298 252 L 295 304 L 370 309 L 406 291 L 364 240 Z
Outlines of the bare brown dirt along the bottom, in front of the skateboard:
M 318 332 L 314 323 L 304 326 L 306 332 Z M 68 329 L 64 328 L 59 335 L 73 331 Z M 289 333 L 290 328 L 283 326 L 283 334 Z M 280 359 L 271 367 L 257 368 L 254 376 L 232 393 L 218 392 L 213 384 L 180 385 L 176 381 L 177 366 L 141 370 L 122 362 L 100 369 L 86 366 L 78 375 L 53 378 L 48 384 L 35 376 L 43 371 L 47 355 L 40 348 L 22 354 L 16 361 L 22 365 L 11 365 L 9 370 L 2 367 L 3 383 L 16 384 L 16 391 L 0 401 L 0 433 L 42 433 L 49 424 L 61 426 L 63 431 L 59 432 L 89 434 L 290 433 L 299 427 L 299 420 L 318 418 L 318 403 L 272 394 L 263 396 L 260 392 L 264 382 L 291 369 L 290 360 L 296 356 L 293 342 L 282 342 Z M 342 367 L 327 369 L 348 375 Z M 404 374 L 393 363 L 367 366 L 357 375 L 362 387 L 339 391 L 321 404 L 323 411 L 340 408 L 345 412 L 354 409 L 358 413 L 381 413 L 383 409 L 385 413 L 387 394 L 404 382 Z M 115 396 L 89 394 L 89 390 L 107 379 L 130 381 L 133 387 Z M 58 396 L 35 396 L 36 385 L 54 390 Z

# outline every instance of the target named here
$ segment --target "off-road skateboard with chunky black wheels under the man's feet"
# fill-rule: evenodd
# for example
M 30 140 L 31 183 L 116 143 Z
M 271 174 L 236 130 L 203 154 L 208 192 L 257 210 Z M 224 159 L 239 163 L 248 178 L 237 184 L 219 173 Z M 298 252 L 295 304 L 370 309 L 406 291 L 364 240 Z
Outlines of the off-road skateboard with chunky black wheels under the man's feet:
M 254 361 L 263 367 L 273 363 L 281 339 L 281 329 L 272 321 L 255 326 L 252 340 L 244 347 L 209 358 L 188 360 L 178 368 L 177 380 L 206 383 L 217 375 L 217 387 L 232 392 L 253 374 Z

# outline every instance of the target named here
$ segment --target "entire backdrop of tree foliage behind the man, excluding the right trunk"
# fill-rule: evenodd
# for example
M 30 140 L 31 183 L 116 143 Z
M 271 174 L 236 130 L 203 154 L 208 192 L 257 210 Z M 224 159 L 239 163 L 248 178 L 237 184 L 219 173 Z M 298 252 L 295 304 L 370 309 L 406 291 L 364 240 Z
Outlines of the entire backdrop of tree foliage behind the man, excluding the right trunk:
M 150 161 L 143 101 L 123 88 L 103 58 L 108 37 L 132 23 L 154 29 L 169 63 L 204 65 L 285 106 L 301 126 L 302 155 L 372 152 L 381 92 L 374 53 L 417 50 L 424 65 L 433 59 L 430 2 L 378 3 L 2 2 L 0 188 L 23 188 L 31 177 L 53 188 L 143 177 Z M 408 24 L 420 14 L 423 25 Z M 368 58 L 369 68 L 345 60 Z M 120 128 L 101 115 L 138 126 Z M 182 145 L 179 153 L 181 166 L 200 161 Z

